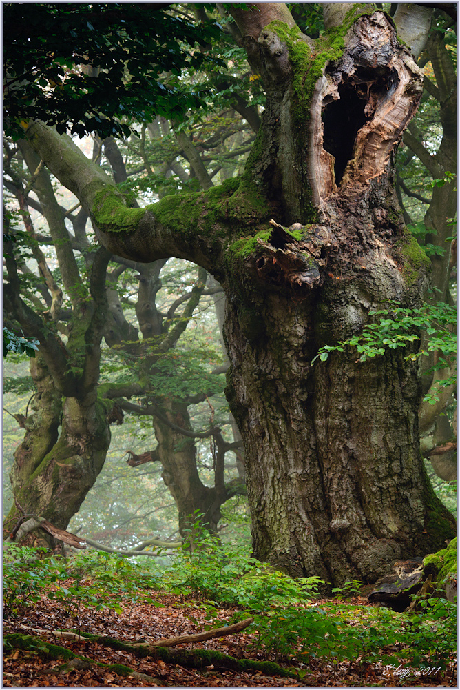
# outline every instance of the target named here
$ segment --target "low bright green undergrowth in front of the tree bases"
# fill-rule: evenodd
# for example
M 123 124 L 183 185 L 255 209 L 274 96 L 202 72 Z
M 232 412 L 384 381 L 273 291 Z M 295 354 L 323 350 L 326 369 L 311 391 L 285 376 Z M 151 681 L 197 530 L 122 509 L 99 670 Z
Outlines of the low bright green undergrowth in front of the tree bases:
M 20 618 L 45 595 L 78 628 L 85 610 L 115 615 L 123 610 L 121 602 L 125 609 L 163 606 L 157 601 L 161 592 L 180 597 L 182 608 L 186 598 L 194 622 L 196 607 L 204 609 L 206 627 L 216 624 L 222 608 L 231 608 L 231 622 L 252 615 L 248 646 L 268 660 L 300 664 L 301 675 L 312 658 L 446 669 L 455 650 L 456 607 L 450 602 L 425 600 L 417 613 L 351 604 L 346 599 L 357 592 L 357 582 L 335 591 L 342 600 L 320 599 L 319 578 L 293 580 L 212 537 L 195 542 L 194 551 L 180 551 L 168 567 L 99 551 L 40 560 L 40 549 L 6 546 L 6 619 Z

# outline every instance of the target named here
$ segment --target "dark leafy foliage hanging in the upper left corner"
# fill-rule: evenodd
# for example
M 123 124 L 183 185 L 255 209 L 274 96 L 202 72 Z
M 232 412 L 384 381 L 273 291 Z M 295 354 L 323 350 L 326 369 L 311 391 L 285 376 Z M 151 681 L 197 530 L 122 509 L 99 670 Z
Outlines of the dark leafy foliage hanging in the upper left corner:
M 4 103 L 7 135 L 39 119 L 83 137 L 129 136 L 134 121 L 181 119 L 206 90 L 182 70 L 224 63 L 207 48 L 216 23 L 173 16 L 169 4 L 7 3 Z M 198 44 L 198 46 L 197 46 Z

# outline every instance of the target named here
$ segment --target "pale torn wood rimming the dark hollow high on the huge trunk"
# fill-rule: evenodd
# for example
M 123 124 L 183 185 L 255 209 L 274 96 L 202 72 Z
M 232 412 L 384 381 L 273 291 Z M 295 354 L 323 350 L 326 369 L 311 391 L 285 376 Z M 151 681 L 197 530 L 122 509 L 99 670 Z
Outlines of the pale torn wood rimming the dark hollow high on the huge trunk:
M 385 41 L 393 50 L 381 51 Z M 315 86 L 309 160 L 314 204 L 322 207 L 337 187 L 342 191 L 365 188 L 384 172 L 417 109 L 422 78 L 383 13 L 355 23 L 344 57 L 331 63 Z M 345 112 L 353 115 L 349 131 L 344 129 Z M 333 133 L 339 121 L 338 141 Z M 346 151 L 348 140 L 353 149 Z

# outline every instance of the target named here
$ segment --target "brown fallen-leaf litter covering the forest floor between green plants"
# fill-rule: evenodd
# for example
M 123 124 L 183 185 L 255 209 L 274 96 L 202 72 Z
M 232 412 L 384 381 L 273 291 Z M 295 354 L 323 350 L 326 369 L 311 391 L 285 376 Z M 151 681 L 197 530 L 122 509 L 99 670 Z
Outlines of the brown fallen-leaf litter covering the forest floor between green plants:
M 327 600 L 325 603 L 331 603 Z M 321 603 L 317 600 L 315 605 Z M 335 600 L 335 604 L 339 604 Z M 368 604 L 362 597 L 349 603 Z M 232 609 L 216 609 L 211 627 L 227 624 Z M 310 660 L 299 678 L 283 678 L 271 671 L 249 669 L 235 671 L 209 664 L 198 669 L 185 664 L 165 663 L 151 656 L 139 658 L 130 651 L 107 646 L 107 638 L 125 643 L 147 642 L 176 635 L 200 633 L 209 629 L 205 607 L 192 598 L 156 595 L 154 604 L 121 602 L 121 613 L 109 609 L 94 611 L 74 607 L 69 611 L 64 602 L 50 601 L 45 593 L 41 600 L 23 609 L 20 615 L 3 623 L 3 632 L 34 635 L 60 648 L 70 650 L 75 658 L 67 663 L 64 658 L 50 660 L 40 649 L 8 649 L 3 662 L 3 687 L 457 687 L 456 665 L 445 673 L 424 676 L 424 667 L 410 669 L 406 677 L 398 669 L 382 664 L 368 664 L 359 658 L 351 662 Z M 34 630 L 41 632 L 36 633 Z M 94 640 L 66 640 L 53 633 L 72 629 L 81 633 L 101 635 L 105 643 Z M 50 648 L 51 649 L 51 648 Z M 194 644 L 181 644 L 175 649 L 217 650 L 236 659 L 277 662 L 283 669 L 293 672 L 299 666 L 286 658 L 273 658 L 258 646 L 258 636 L 244 632 L 213 638 Z M 85 660 L 81 660 L 84 658 Z M 113 666 L 118 664 L 118 666 Z M 123 664 L 123 666 L 121 666 Z M 125 669 L 123 669 L 125 667 Z M 126 669 L 128 667 L 128 669 Z M 129 669 L 134 671 L 129 673 Z M 454 670 L 452 670 L 454 669 Z M 149 677 L 143 678 L 137 674 Z

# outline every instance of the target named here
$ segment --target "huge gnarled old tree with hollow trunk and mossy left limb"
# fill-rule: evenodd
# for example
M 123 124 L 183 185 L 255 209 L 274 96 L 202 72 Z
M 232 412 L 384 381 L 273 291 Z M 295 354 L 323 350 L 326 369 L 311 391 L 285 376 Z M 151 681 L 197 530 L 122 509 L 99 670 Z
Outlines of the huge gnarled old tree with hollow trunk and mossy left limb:
M 129 209 L 68 139 L 38 123 L 27 136 L 110 252 L 189 259 L 224 287 L 255 555 L 293 575 L 372 581 L 454 531 L 419 455 L 417 371 L 399 351 L 312 359 L 389 300 L 420 304 L 428 284 L 393 190 L 422 74 L 371 6 L 346 6 L 315 45 L 286 6 L 249 7 L 232 14 L 267 99 L 241 178 Z

